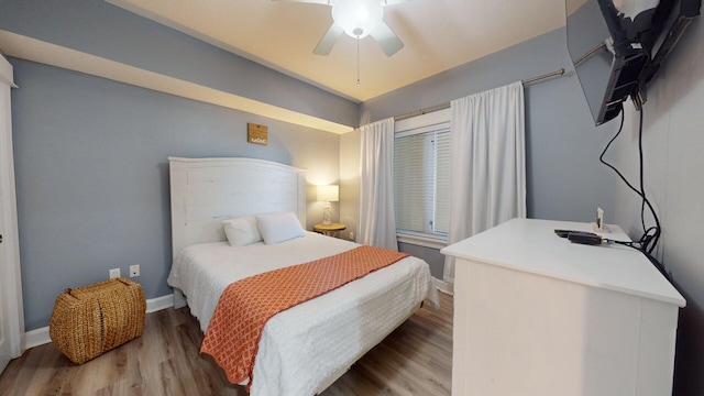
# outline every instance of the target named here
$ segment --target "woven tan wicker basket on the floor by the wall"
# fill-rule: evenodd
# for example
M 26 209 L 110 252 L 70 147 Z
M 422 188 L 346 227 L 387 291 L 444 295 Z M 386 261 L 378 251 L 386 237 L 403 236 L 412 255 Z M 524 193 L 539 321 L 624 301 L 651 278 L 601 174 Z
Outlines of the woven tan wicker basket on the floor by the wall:
M 48 333 L 72 362 L 81 364 L 142 336 L 142 286 L 125 278 L 66 289 L 54 304 Z

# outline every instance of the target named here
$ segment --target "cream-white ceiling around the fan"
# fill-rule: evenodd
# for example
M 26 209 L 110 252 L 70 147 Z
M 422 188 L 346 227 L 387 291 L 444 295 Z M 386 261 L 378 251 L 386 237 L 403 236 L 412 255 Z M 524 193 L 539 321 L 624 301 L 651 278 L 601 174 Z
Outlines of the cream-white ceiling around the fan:
M 410 0 L 384 8 L 405 46 L 370 36 L 312 54 L 332 23 L 324 4 L 271 0 L 107 0 L 355 101 L 365 101 L 564 25 L 563 0 Z

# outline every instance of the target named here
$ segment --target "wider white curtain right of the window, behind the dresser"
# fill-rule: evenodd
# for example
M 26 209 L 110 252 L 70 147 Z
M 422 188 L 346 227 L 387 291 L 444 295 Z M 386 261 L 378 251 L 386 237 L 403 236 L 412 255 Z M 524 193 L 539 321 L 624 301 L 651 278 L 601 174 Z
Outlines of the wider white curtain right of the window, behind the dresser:
M 520 81 L 451 101 L 448 244 L 526 217 L 524 86 Z M 443 280 L 454 283 L 446 257 Z

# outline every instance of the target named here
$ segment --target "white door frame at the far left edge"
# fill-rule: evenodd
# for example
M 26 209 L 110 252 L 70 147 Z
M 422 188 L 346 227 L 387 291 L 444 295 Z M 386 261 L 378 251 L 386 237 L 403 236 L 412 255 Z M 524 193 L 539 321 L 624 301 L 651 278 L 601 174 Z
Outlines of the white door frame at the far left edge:
M 22 302 L 22 277 L 20 275 L 20 235 L 18 231 L 18 211 L 14 184 L 14 157 L 12 150 L 12 112 L 10 89 L 16 88 L 13 80 L 12 65 L 0 54 L 0 95 L 4 98 L 0 103 L 0 112 L 6 112 L 6 122 L 0 123 L 0 226 L 2 226 L 2 257 L 7 266 L 0 266 L 0 301 L 7 301 L 3 310 L 8 320 L 8 339 L 12 358 L 18 358 L 24 350 L 24 308 Z

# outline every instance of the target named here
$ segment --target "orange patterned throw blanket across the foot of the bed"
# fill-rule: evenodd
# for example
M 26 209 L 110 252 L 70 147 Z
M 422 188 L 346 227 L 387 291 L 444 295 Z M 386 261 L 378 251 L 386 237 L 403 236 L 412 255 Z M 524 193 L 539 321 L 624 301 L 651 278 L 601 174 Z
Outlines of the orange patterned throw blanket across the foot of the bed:
M 220 296 L 200 352 L 212 355 L 231 383 L 249 378 L 249 391 L 254 359 L 270 318 L 407 255 L 365 245 L 234 282 Z

